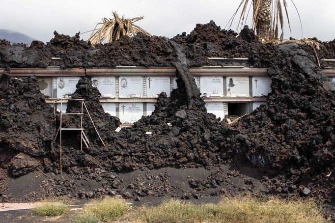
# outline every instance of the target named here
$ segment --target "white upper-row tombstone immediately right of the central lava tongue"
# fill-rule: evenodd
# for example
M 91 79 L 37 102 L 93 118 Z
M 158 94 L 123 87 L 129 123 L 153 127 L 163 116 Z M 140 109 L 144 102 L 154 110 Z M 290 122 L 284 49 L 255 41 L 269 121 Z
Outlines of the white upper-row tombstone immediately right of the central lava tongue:
M 211 94 L 223 96 L 223 77 L 200 77 L 200 92 L 206 93 L 207 97 Z

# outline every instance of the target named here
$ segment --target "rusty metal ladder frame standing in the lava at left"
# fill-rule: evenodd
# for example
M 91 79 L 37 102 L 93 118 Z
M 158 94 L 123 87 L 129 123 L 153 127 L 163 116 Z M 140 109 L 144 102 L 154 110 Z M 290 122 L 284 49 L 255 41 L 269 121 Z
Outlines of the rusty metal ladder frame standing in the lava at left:
M 63 103 L 69 101 L 69 100 L 74 100 L 74 101 L 80 101 L 81 103 L 81 113 L 63 113 L 62 112 L 62 108 L 63 108 Z M 62 131 L 80 131 L 80 149 L 83 150 L 83 142 L 84 142 L 84 145 L 86 146 L 86 148 L 89 147 L 89 140 L 84 132 L 84 128 L 83 128 L 83 115 L 84 115 L 84 108 L 85 108 L 85 111 L 87 112 L 88 114 L 88 117 L 89 119 L 91 120 L 92 124 L 93 124 L 93 127 L 96 131 L 96 133 L 98 134 L 98 137 L 99 139 L 101 140 L 102 144 L 106 147 L 104 141 L 101 139 L 100 137 L 100 134 L 98 133 L 98 130 L 97 128 L 95 127 L 94 125 L 94 122 L 92 120 L 92 117 L 91 115 L 89 114 L 88 110 L 87 110 L 87 107 L 85 105 L 85 102 L 84 102 L 84 99 L 77 99 L 77 98 L 60 98 L 60 99 L 57 99 L 56 101 L 54 101 L 54 115 L 55 115 L 55 125 L 56 125 L 56 106 L 55 106 L 55 103 L 60 101 L 60 110 L 59 110 L 59 113 L 60 113 L 60 124 L 59 124 L 59 128 L 57 129 L 57 132 L 56 132 L 56 136 L 55 136 L 55 139 L 54 139 L 54 142 L 56 141 L 57 139 L 57 136 L 58 136 L 58 133 L 59 133 L 59 146 L 60 146 L 60 154 L 59 154 L 59 157 L 60 157 L 60 174 L 62 173 Z M 80 122 L 80 128 L 62 128 L 62 116 L 63 115 L 80 115 L 81 116 L 81 122 Z

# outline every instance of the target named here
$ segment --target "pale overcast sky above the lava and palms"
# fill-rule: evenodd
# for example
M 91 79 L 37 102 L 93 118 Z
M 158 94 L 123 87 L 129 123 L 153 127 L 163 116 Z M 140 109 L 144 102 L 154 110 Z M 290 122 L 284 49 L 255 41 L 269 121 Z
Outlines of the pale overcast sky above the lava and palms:
M 301 38 L 299 17 L 288 1 L 292 32 L 284 38 Z M 294 0 L 301 15 L 304 37 L 335 39 L 335 0 Z M 197 23 L 214 20 L 224 28 L 240 0 L 0 0 L 0 28 L 23 32 L 48 42 L 53 32 L 73 36 L 88 31 L 112 10 L 126 17 L 144 16 L 137 25 L 153 35 L 173 37 L 189 33 Z M 250 23 L 250 22 L 248 22 Z M 247 23 L 247 24 L 248 24 Z M 232 29 L 236 29 L 237 21 Z M 89 33 L 81 35 L 87 39 Z

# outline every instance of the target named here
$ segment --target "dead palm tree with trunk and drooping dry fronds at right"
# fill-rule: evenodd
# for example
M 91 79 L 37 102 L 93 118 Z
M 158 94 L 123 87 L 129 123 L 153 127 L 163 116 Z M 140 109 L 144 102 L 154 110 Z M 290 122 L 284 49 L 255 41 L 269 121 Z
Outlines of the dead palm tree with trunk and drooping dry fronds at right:
M 291 1 L 296 8 L 293 0 Z M 234 15 L 228 22 L 228 24 L 230 23 L 229 28 L 231 27 L 238 11 L 242 8 L 238 23 L 238 29 L 241 29 L 243 23 L 248 18 L 251 6 L 253 8 L 252 28 L 256 30 L 260 39 L 278 39 L 279 30 L 281 31 L 280 39 L 283 39 L 284 17 L 287 18 L 288 27 L 291 31 L 286 0 L 242 0 Z

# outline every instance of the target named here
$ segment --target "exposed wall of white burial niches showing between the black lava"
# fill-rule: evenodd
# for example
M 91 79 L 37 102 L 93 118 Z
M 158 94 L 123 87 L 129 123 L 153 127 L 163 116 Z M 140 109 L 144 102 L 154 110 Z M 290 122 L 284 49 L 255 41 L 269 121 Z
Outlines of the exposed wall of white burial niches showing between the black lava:
M 83 69 L 76 69 L 53 69 L 53 72 L 44 69 L 45 73 L 31 72 L 31 75 L 38 76 L 41 92 L 50 98 L 47 102 L 52 104 L 54 98 L 66 98 L 76 90 L 78 80 L 85 75 Z M 20 69 L 13 70 L 13 76 L 15 73 L 27 76 L 29 72 L 29 69 L 21 69 L 21 73 Z M 101 93 L 100 102 L 105 112 L 119 117 L 124 124 L 132 124 L 142 115 L 150 115 L 157 95 L 165 91 L 169 97 L 177 87 L 175 68 L 92 68 L 86 73 Z M 203 67 L 191 68 L 191 74 L 206 102 L 207 111 L 221 119 L 252 112 L 267 103 L 266 96 L 271 92 L 271 79 L 263 68 Z M 334 74 L 328 76 L 332 82 L 335 81 Z M 56 106 L 59 111 L 60 105 Z M 62 111 L 66 111 L 66 104 L 63 104 Z

